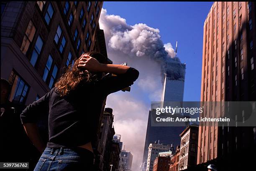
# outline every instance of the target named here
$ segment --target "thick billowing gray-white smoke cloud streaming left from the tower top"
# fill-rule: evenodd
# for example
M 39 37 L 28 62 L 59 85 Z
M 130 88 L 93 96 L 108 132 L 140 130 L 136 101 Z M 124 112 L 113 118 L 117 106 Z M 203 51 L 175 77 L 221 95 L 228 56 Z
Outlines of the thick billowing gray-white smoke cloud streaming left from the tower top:
M 169 63 L 180 63 L 172 45 L 162 42 L 159 29 L 142 23 L 128 25 L 118 15 L 107 15 L 105 9 L 101 12 L 100 27 L 111 50 L 118 50 L 131 58 L 150 58 L 161 65 L 162 73 L 175 72 Z

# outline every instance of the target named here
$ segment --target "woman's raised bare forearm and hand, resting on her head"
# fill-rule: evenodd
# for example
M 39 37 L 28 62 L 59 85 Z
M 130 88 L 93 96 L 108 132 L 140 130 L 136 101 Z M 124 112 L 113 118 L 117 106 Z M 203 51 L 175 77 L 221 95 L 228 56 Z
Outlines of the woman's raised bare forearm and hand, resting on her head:
M 92 72 L 113 73 L 119 75 L 126 73 L 130 67 L 125 65 L 99 63 L 95 58 L 92 58 L 89 55 L 84 55 L 84 57 L 79 60 L 78 68 Z

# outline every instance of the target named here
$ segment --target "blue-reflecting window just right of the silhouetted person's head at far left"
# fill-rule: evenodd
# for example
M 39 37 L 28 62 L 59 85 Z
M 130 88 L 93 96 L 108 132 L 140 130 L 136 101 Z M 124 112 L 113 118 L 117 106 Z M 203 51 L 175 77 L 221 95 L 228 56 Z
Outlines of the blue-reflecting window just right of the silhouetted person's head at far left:
M 10 75 L 12 88 L 10 93 L 10 101 L 14 103 L 24 103 L 28 93 L 28 85 L 14 71 Z

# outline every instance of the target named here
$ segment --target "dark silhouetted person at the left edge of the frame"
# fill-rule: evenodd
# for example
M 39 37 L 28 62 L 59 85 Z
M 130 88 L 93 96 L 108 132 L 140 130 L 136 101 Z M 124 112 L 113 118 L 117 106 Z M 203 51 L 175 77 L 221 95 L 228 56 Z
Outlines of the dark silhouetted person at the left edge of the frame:
M 8 80 L 1 78 L 0 88 L 0 162 L 29 162 L 33 145 L 20 122 L 20 112 L 25 106 L 8 100 L 11 91 Z

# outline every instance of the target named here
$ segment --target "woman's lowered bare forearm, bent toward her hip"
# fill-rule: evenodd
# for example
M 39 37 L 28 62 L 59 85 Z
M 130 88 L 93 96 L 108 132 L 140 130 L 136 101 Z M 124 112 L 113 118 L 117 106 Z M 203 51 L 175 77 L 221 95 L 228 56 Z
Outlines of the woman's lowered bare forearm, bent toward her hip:
M 31 140 L 33 145 L 38 149 L 38 151 L 43 153 L 46 145 L 44 144 L 41 136 L 39 135 L 38 126 L 36 125 L 36 123 L 24 123 L 23 126 L 28 135 L 28 138 Z

